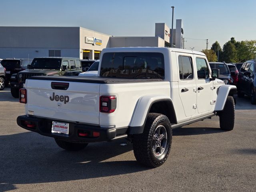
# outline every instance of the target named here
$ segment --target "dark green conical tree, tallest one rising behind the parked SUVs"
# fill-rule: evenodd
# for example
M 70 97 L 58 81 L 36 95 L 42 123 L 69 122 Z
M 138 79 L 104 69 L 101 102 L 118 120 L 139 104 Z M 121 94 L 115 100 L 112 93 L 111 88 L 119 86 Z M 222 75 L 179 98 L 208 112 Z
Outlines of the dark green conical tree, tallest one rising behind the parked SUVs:
M 226 63 L 235 63 L 238 61 L 236 46 L 231 41 L 223 45 L 222 60 Z

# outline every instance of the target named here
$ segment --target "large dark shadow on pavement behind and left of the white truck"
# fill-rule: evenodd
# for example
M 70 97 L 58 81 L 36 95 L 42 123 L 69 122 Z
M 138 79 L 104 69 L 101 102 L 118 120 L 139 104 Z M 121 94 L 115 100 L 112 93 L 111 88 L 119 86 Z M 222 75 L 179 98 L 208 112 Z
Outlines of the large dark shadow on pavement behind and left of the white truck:
M 53 138 L 33 132 L 0 136 L 0 188 L 12 190 L 14 184 L 80 180 L 148 170 L 135 158 L 120 161 L 127 159 L 125 153 L 133 150 L 132 144 L 120 145 L 123 143 L 126 140 L 90 143 L 82 151 L 69 152 L 59 148 Z

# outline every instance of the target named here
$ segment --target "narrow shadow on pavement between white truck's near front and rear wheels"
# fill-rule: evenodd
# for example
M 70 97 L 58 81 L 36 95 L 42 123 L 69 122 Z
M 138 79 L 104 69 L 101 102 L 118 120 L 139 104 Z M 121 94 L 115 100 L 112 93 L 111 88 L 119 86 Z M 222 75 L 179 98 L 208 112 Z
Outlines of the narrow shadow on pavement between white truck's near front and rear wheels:
M 188 127 L 188 128 L 176 128 L 172 130 L 173 136 L 185 136 L 185 135 L 202 135 L 225 132 L 220 128 L 200 128 L 200 127 Z

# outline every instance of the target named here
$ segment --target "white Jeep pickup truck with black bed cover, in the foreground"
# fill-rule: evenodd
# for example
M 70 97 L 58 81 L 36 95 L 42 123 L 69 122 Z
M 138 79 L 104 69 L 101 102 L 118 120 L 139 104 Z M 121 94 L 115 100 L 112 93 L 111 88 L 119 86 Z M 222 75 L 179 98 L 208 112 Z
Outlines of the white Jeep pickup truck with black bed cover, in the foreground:
M 177 48 L 106 48 L 98 76 L 34 76 L 20 89 L 22 128 L 53 137 L 61 148 L 127 138 L 136 160 L 162 165 L 172 128 L 220 117 L 234 128 L 236 86 L 218 79 L 202 52 Z

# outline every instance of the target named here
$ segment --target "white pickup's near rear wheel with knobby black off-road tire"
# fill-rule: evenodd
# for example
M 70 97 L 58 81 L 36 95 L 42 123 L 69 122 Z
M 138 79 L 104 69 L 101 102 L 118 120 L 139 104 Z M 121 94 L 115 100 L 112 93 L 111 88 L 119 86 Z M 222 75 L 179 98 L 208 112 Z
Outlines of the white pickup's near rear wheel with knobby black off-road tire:
M 156 151 L 153 150 L 153 147 L 156 146 L 156 140 L 153 139 L 156 138 L 155 131 L 157 129 L 164 129 L 166 131 L 166 138 L 157 141 L 158 143 L 160 142 L 160 145 L 162 143 L 165 145 L 162 154 L 159 154 L 160 156 L 156 156 Z M 158 135 L 161 135 L 160 132 Z M 140 164 L 148 167 L 155 168 L 161 166 L 169 155 L 171 145 L 172 128 L 168 117 L 158 113 L 148 114 L 143 133 L 134 135 L 133 151 L 136 160 Z

